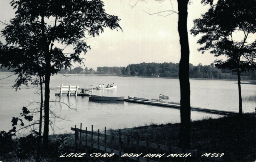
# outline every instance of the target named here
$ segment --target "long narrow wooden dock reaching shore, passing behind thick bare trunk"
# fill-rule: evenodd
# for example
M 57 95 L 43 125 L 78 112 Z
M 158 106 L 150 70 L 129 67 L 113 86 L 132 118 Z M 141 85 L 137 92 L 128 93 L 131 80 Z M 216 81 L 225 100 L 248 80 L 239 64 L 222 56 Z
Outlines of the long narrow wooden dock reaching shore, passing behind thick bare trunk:
M 133 100 L 133 99 L 124 99 L 124 101 L 134 102 L 134 103 L 138 103 L 138 104 L 151 104 L 151 105 L 166 106 L 166 107 L 180 109 L 180 105 L 177 105 L 177 104 L 161 103 L 161 102 L 153 102 L 153 101 Z M 220 115 L 238 115 L 239 114 L 238 112 L 213 110 L 213 109 L 206 109 L 206 108 L 193 107 L 193 106 L 190 106 L 190 107 L 191 107 L 191 110 L 193 110 L 193 111 L 208 112 L 208 113 L 213 113 L 213 114 L 220 114 Z

